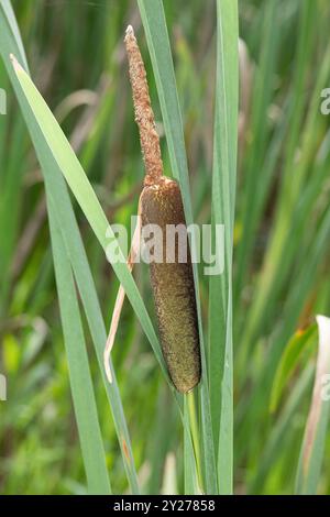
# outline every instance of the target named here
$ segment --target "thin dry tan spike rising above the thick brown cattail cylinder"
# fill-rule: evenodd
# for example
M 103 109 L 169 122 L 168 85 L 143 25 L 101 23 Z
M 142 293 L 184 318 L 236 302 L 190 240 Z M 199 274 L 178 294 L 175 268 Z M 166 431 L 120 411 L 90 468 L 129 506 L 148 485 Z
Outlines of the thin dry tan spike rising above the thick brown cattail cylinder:
M 129 57 L 135 122 L 139 125 L 141 148 L 145 166 L 144 185 L 155 185 L 163 176 L 160 136 L 156 131 L 154 112 L 151 107 L 144 64 L 131 25 L 127 29 L 124 41 Z

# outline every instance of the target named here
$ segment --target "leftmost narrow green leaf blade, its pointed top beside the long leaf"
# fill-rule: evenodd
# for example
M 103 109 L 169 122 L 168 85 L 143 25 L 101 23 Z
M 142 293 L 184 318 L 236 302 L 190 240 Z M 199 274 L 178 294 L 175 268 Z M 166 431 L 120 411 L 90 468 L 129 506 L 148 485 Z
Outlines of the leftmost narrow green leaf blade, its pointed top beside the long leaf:
M 61 230 L 51 208 L 48 213 L 61 318 L 68 360 L 74 408 L 88 481 L 88 492 L 90 494 L 109 494 L 110 484 L 106 466 L 106 455 L 74 277 L 67 255 L 64 253 Z

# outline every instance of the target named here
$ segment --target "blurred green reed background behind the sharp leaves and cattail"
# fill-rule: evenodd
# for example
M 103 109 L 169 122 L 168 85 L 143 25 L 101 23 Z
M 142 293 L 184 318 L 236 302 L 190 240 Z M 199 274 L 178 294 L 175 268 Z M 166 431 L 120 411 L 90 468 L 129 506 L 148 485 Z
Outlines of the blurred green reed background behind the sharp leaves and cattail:
M 135 1 L 14 0 L 31 75 L 61 122 L 110 222 L 130 228 L 143 180 L 123 46 L 131 23 L 154 77 Z M 184 114 L 196 221 L 210 220 L 216 2 L 164 0 Z M 330 87 L 327 0 L 241 0 L 240 119 L 234 228 L 234 487 L 292 493 L 311 396 L 316 314 L 330 315 Z M 85 493 L 59 321 L 42 175 L 0 63 L 0 493 Z M 170 175 L 162 138 L 165 174 Z M 76 210 L 109 327 L 118 282 Z M 145 266 L 134 273 L 151 299 Z M 207 327 L 208 284 L 201 278 Z M 153 315 L 153 304 L 148 301 Z M 312 327 L 310 327 L 312 326 Z M 306 338 L 271 410 L 287 343 Z M 88 333 L 87 333 L 88 337 Z M 294 338 L 293 338 L 294 337 Z M 145 493 L 180 484 L 182 430 L 173 399 L 128 302 L 112 354 Z M 90 346 L 90 365 L 114 493 L 127 487 Z M 274 389 L 274 388 L 273 388 Z M 274 393 L 274 392 L 273 392 Z M 330 453 L 330 440 L 327 454 Z M 328 470 L 327 470 L 328 469 Z M 327 462 L 321 493 L 330 492 Z

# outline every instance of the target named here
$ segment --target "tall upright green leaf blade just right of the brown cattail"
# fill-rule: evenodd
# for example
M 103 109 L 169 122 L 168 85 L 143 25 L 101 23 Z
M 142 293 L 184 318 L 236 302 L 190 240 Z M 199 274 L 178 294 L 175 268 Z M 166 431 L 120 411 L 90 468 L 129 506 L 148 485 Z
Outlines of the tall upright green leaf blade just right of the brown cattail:
M 231 494 L 233 483 L 232 241 L 238 148 L 238 2 L 218 0 L 212 224 L 224 224 L 226 265 L 222 275 L 210 277 L 209 354 L 220 494 Z

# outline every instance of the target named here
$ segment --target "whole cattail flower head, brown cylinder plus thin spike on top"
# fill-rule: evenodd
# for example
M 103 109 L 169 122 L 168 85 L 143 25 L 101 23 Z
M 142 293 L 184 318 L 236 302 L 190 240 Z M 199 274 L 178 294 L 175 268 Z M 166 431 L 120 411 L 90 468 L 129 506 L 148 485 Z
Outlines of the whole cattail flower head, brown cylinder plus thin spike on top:
M 166 250 L 166 226 L 185 224 L 185 212 L 178 184 L 163 175 L 160 138 L 151 107 L 145 68 L 132 26 L 125 34 L 135 121 L 139 125 L 145 165 L 144 188 L 140 197 L 142 227 L 157 224 L 163 231 Z M 176 246 L 177 248 L 177 246 Z M 152 262 L 151 284 L 156 307 L 161 344 L 169 376 L 175 387 L 190 392 L 200 381 L 200 349 L 196 295 L 189 243 L 187 261 Z

